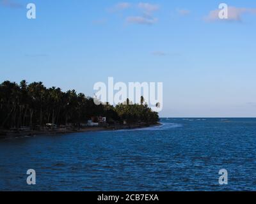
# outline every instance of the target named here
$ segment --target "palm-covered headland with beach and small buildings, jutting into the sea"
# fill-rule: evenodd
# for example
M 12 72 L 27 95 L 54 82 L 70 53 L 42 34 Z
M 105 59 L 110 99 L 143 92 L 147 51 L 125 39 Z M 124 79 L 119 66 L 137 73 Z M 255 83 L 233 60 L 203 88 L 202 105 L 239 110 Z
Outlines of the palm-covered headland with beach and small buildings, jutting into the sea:
M 144 128 L 159 124 L 141 96 L 116 106 L 95 105 L 93 98 L 75 90 L 47 89 L 42 82 L 0 84 L 0 136 L 26 136 L 113 129 Z

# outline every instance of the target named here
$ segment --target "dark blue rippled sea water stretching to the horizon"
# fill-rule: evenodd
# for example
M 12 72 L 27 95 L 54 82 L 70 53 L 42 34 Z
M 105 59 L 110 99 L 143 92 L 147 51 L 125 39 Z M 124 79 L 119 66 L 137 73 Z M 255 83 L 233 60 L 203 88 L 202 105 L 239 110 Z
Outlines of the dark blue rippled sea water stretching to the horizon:
M 256 119 L 0 140 L 0 190 L 255 191 Z M 228 185 L 219 171 L 228 171 Z M 28 186 L 26 171 L 36 171 Z

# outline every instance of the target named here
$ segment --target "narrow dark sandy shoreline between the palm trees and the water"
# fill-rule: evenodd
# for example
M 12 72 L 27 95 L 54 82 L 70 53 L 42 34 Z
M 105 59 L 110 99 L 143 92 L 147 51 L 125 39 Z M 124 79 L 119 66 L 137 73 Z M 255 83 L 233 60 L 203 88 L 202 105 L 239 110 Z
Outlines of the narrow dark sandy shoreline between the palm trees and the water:
M 98 131 L 115 131 L 115 130 L 122 130 L 122 129 L 141 129 L 141 128 L 148 128 L 154 126 L 162 126 L 160 122 L 156 124 L 147 124 L 147 125 L 140 125 L 140 124 L 131 124 L 131 125 L 122 125 L 122 126 L 110 126 L 108 128 L 101 128 L 101 127 L 87 127 L 87 128 L 57 128 L 52 130 L 43 130 L 43 131 L 20 131 L 20 132 L 13 132 L 11 130 L 4 130 L 0 129 L 0 140 L 3 139 L 10 139 L 10 138 L 22 138 L 26 136 L 38 136 L 38 135 L 65 135 L 65 134 L 72 134 L 72 133 L 86 133 L 86 132 L 98 132 Z M 3 134 L 3 135 L 2 135 Z

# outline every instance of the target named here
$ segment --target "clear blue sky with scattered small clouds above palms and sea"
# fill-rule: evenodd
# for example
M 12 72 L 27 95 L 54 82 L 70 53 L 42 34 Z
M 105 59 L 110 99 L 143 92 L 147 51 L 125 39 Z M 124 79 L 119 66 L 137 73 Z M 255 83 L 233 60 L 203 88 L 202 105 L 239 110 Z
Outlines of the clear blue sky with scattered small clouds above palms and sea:
M 220 3 L 230 20 L 212 17 Z M 162 117 L 256 117 L 255 9 L 253 0 L 0 0 L 0 81 L 88 96 L 108 77 L 163 82 Z

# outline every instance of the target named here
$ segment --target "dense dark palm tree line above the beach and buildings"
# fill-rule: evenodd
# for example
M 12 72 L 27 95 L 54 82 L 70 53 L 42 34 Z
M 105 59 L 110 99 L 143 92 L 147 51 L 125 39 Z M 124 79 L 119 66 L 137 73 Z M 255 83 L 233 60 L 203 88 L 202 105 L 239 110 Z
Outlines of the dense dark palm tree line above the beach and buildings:
M 127 102 L 127 101 L 125 101 Z M 140 105 L 95 105 L 93 98 L 76 91 L 47 89 L 42 82 L 20 84 L 5 81 L 0 85 L 0 128 L 44 127 L 47 123 L 79 126 L 94 116 L 105 116 L 108 122 L 145 122 L 159 120 L 141 97 Z

